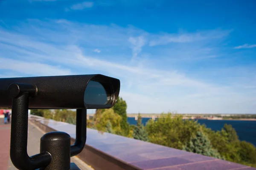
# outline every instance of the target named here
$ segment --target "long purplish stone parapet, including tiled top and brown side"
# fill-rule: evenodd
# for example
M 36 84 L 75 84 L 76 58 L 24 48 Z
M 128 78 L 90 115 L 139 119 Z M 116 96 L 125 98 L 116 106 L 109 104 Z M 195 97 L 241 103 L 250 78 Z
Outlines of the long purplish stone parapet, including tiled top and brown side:
M 63 131 L 76 138 L 76 125 L 30 115 L 45 132 Z M 189 153 L 87 128 L 87 141 L 78 157 L 95 170 L 256 170 L 229 161 Z

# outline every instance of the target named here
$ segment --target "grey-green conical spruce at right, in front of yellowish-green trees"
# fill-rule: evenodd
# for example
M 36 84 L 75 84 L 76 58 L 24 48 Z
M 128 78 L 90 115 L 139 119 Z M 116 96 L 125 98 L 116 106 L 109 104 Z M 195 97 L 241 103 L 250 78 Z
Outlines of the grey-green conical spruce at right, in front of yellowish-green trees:
M 211 141 L 201 131 L 198 131 L 194 137 L 183 147 L 183 150 L 198 153 L 205 156 L 221 158 L 217 150 L 212 148 Z

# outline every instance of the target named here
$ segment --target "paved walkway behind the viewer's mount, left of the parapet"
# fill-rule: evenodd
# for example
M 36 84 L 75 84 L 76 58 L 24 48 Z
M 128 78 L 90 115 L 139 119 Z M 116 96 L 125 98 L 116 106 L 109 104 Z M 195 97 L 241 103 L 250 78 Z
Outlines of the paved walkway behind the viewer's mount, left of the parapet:
M 4 124 L 3 118 L 0 118 L 0 170 L 17 170 L 9 156 L 10 134 L 11 124 Z M 40 138 L 42 135 L 44 135 L 44 132 L 41 129 L 29 123 L 27 151 L 29 156 L 40 152 Z M 93 170 L 76 156 L 71 158 L 71 162 L 74 162 L 81 170 Z

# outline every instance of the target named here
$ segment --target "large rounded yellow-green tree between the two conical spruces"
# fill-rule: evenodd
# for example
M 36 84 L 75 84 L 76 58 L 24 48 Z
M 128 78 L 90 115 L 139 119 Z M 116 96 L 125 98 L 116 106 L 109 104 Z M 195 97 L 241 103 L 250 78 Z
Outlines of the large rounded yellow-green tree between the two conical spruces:
M 145 128 L 149 141 L 155 144 L 182 149 L 190 138 L 200 129 L 196 121 L 183 120 L 181 115 L 172 117 L 162 114 L 156 121 L 149 120 Z

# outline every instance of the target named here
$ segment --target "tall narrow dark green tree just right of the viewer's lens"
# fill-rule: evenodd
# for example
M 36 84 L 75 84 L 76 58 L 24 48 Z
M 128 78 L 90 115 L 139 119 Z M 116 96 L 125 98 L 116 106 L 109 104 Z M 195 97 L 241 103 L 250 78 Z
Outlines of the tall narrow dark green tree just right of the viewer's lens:
M 129 135 L 129 124 L 127 122 L 127 104 L 122 98 L 117 98 L 116 104 L 113 106 L 114 112 L 122 117 L 121 129 L 123 130 L 123 135 Z

